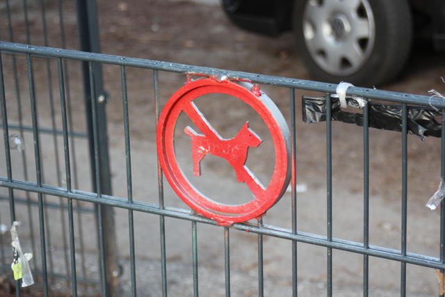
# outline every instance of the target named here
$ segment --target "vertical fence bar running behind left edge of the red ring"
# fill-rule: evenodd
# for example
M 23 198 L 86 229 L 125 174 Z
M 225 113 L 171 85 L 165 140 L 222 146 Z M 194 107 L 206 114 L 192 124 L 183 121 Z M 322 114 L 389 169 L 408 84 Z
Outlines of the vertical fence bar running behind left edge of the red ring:
M 154 109 L 156 117 L 156 127 L 158 127 L 160 110 L 159 102 L 159 73 L 158 70 L 153 70 L 153 87 L 154 87 Z M 164 208 L 164 188 L 163 188 L 163 175 L 161 164 L 158 159 L 158 194 L 159 194 L 159 208 Z M 161 234 L 161 277 L 162 277 L 162 296 L 167 296 L 167 266 L 165 259 L 165 218 L 159 216 L 159 233 Z

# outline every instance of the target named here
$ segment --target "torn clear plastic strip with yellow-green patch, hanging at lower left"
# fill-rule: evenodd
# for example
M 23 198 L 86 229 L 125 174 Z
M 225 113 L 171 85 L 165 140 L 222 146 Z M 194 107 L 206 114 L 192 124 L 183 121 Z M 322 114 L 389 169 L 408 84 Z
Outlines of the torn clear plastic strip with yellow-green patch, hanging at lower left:
M 14 279 L 19 280 L 22 279 L 22 287 L 31 286 L 34 283 L 33 275 L 31 274 L 31 268 L 29 267 L 29 260 L 33 257 L 32 253 L 27 252 L 24 254 L 22 251 L 22 246 L 20 246 L 19 234 L 17 233 L 17 226 L 20 225 L 20 222 L 15 221 L 13 226 L 11 227 L 11 246 L 13 246 L 14 251 L 14 259 L 11 264 L 11 268 L 13 269 Z

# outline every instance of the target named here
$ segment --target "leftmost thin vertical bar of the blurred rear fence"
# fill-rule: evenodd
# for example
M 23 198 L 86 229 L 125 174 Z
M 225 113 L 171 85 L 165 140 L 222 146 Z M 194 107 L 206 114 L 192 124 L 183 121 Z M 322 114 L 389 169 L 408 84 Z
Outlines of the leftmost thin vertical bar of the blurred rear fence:
M 13 22 L 11 19 L 11 11 L 10 11 L 10 3 L 9 0 L 6 1 L 6 12 L 8 15 L 8 31 L 9 31 L 9 39 L 10 42 L 15 42 L 14 38 L 14 32 L 13 32 Z M 16 55 L 13 54 L 13 75 L 14 75 L 14 85 L 15 85 L 15 94 L 17 96 L 17 117 L 19 119 L 19 135 L 22 136 L 24 139 L 24 133 L 23 133 L 23 114 L 22 114 L 22 95 L 20 92 L 20 86 L 19 86 L 19 77 L 17 74 L 17 58 Z M 22 150 L 22 169 L 23 169 L 23 177 L 25 180 L 29 180 L 28 178 L 28 166 L 26 163 L 26 150 Z M 26 198 L 26 210 L 28 213 L 28 227 L 29 227 L 29 233 L 31 237 L 31 250 L 33 252 L 33 255 L 35 254 L 35 236 L 34 236 L 34 227 L 33 227 L 33 213 L 31 211 L 31 195 L 29 195 L 29 192 L 25 192 L 25 198 Z M 35 268 L 35 261 L 31 261 L 32 265 Z

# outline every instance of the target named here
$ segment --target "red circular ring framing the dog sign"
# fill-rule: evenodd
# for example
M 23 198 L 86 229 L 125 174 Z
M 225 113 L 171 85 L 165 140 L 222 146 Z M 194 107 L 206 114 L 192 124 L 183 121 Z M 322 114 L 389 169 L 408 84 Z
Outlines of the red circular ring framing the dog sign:
M 241 99 L 259 113 L 266 123 L 275 147 L 275 169 L 270 183 L 254 200 L 238 205 L 214 202 L 193 187 L 182 172 L 175 157 L 175 125 L 184 104 L 211 93 L 222 93 Z M 260 99 L 261 98 L 261 99 Z M 221 225 L 245 222 L 257 218 L 277 202 L 286 190 L 290 177 L 289 129 L 273 102 L 266 96 L 257 97 L 250 90 L 232 81 L 199 79 L 186 85 L 168 99 L 156 127 L 156 146 L 159 163 L 165 178 L 179 198 L 191 209 L 218 221 Z M 281 118 L 280 118 L 281 117 Z M 227 215 L 225 215 L 227 214 Z

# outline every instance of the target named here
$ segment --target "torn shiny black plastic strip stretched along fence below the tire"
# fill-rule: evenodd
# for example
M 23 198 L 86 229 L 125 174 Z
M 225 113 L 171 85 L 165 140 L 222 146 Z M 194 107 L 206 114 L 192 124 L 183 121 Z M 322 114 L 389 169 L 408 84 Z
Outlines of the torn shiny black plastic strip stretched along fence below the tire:
M 332 120 L 363 126 L 363 114 L 342 111 L 337 98 L 332 100 Z M 348 106 L 360 108 L 359 102 L 354 97 L 347 97 Z M 402 131 L 402 106 L 368 102 L 369 127 L 375 129 Z M 302 97 L 303 122 L 325 122 L 326 99 L 325 97 Z M 407 129 L 411 134 L 420 138 L 424 136 L 441 137 L 442 125 L 435 117 L 442 115 L 430 107 L 407 106 Z

